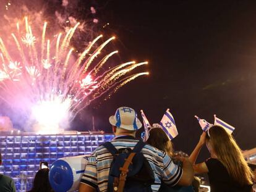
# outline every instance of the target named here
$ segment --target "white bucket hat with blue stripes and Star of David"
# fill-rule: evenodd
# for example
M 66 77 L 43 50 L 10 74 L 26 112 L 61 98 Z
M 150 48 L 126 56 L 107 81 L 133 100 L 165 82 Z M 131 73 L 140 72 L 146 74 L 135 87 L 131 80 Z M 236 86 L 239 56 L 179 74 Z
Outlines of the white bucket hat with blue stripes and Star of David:
M 119 128 L 134 131 L 142 127 L 137 113 L 130 107 L 119 107 L 116 114 L 109 117 L 109 123 Z

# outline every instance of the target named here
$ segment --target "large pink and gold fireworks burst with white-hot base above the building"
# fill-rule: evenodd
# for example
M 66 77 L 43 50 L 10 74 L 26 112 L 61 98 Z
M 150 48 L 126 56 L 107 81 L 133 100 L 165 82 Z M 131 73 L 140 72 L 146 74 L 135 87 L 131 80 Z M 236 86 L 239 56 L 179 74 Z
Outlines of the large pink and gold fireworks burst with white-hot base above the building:
M 46 40 L 46 22 L 41 34 L 33 34 L 33 26 L 27 17 L 24 20 L 25 25 L 17 23 L 12 41 L 0 38 L 0 97 L 29 114 L 40 133 L 57 133 L 94 99 L 106 93 L 109 97 L 129 81 L 148 74 L 125 76 L 147 62 L 126 62 L 105 70 L 109 58 L 118 52 L 102 53 L 114 37 L 99 44 L 100 35 L 76 56 L 70 41 L 79 23 L 66 34 Z

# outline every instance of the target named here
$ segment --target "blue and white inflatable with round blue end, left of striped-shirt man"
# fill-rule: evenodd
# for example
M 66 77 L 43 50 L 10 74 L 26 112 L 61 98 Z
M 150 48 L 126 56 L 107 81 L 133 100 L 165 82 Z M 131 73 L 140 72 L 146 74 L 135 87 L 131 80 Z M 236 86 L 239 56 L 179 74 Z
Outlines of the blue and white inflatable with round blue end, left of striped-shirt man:
M 54 161 L 49 170 L 49 182 L 53 190 L 55 192 L 78 190 L 87 162 L 87 156 L 64 157 Z

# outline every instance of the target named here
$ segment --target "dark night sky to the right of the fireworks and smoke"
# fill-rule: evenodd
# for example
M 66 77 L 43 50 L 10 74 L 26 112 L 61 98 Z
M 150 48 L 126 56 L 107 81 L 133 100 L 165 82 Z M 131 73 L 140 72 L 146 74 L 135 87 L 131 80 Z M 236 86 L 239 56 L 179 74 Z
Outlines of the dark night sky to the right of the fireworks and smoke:
M 213 114 L 236 127 L 233 135 L 241 149 L 256 146 L 256 2 L 116 0 L 103 5 L 106 31 L 118 37 L 114 46 L 121 61 L 149 61 L 140 70 L 150 75 L 132 81 L 98 109 L 87 109 L 96 128 L 111 131 L 108 117 L 120 106 L 143 109 L 151 123 L 160 122 L 169 108 L 179 131 L 176 149 L 190 154 L 202 133 L 194 115 L 213 123 Z M 204 149 L 200 158 L 208 156 Z

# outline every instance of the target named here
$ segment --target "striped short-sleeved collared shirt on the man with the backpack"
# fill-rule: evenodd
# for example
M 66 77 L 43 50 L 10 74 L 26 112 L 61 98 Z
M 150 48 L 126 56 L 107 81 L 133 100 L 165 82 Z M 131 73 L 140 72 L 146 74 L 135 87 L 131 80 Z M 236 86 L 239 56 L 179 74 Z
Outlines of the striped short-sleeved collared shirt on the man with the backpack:
M 117 150 L 121 148 L 133 149 L 138 141 L 132 136 L 121 136 L 112 140 L 111 143 Z M 155 183 L 151 185 L 152 191 L 159 190 L 161 181 L 170 186 L 174 186 L 179 182 L 182 176 L 182 169 L 174 164 L 171 157 L 165 152 L 146 144 L 142 149 L 142 153 L 154 172 Z M 108 175 L 112 161 L 113 156 L 108 152 L 108 149 L 104 146 L 99 146 L 88 157 L 88 163 L 80 182 L 93 188 L 98 187 L 100 191 L 107 191 Z

